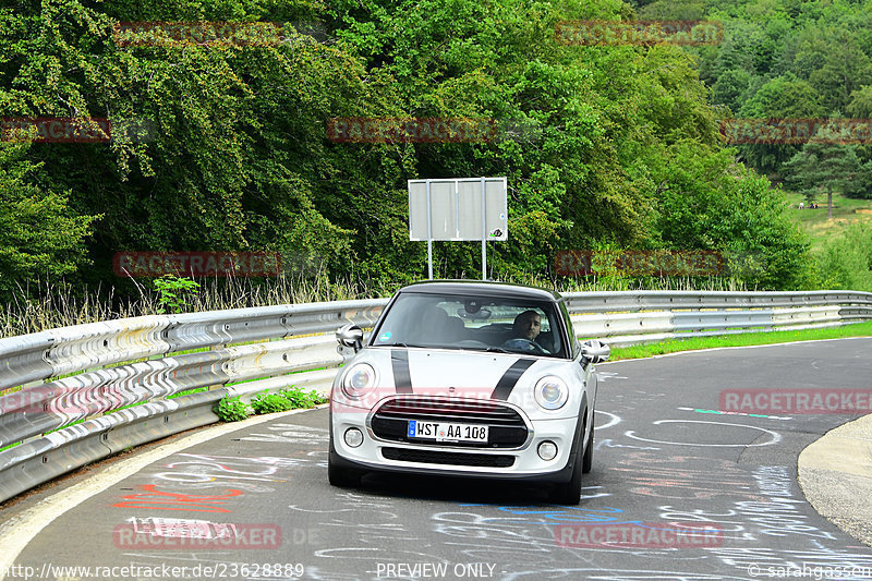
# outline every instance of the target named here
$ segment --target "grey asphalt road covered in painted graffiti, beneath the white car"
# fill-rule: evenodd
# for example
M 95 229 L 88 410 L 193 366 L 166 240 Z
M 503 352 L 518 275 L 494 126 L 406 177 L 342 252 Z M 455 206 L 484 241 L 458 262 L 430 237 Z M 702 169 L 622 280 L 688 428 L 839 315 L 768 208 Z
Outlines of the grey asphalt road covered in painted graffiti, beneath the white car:
M 872 579 L 872 549 L 820 517 L 796 479 L 799 452 L 858 414 L 711 413 L 724 390 L 868 389 L 870 352 L 872 339 L 850 339 L 601 365 L 578 507 L 501 482 L 370 475 L 332 488 L 327 410 L 284 414 L 90 496 L 7 579 Z

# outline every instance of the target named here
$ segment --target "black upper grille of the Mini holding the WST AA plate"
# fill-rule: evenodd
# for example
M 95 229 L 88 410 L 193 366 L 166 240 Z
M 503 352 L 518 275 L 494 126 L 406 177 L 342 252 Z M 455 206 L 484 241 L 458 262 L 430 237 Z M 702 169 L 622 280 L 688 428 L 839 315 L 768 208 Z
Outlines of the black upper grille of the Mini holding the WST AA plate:
M 409 420 L 431 420 L 488 426 L 487 443 L 409 439 Z M 518 448 L 528 438 L 526 424 L 513 408 L 488 400 L 407 397 L 385 402 L 371 423 L 376 437 L 458 448 Z

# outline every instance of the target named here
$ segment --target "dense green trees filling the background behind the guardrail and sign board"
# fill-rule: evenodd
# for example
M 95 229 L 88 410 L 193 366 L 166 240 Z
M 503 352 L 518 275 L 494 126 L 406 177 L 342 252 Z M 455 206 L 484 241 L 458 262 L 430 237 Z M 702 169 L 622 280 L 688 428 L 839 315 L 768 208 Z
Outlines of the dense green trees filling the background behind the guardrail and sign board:
M 833 51 L 869 53 L 869 11 L 821 9 L 818 31 L 801 20 L 812 3 L 770 4 L 784 15 L 735 16 L 749 36 L 703 50 L 698 73 L 681 47 L 556 40 L 561 21 L 637 17 L 619 0 L 13 2 L 0 9 L 0 117 L 154 126 L 111 144 L 0 143 L 0 299 L 35 277 L 123 285 L 119 251 L 269 250 L 293 269 L 417 279 L 426 249 L 408 240 L 407 180 L 469 175 L 511 189 L 510 239 L 489 245 L 496 277 L 548 277 L 557 250 L 611 244 L 719 250 L 760 265 L 736 269 L 740 282 L 807 285 L 807 243 L 777 190 L 724 148 L 728 113 L 708 86 L 737 109 L 774 111 L 787 94 L 803 114 L 860 111 L 872 65 Z M 283 37 L 125 46 L 119 21 L 275 22 Z M 336 117 L 516 129 L 487 143 L 336 143 Z M 475 243 L 435 255 L 439 276 L 480 269 Z

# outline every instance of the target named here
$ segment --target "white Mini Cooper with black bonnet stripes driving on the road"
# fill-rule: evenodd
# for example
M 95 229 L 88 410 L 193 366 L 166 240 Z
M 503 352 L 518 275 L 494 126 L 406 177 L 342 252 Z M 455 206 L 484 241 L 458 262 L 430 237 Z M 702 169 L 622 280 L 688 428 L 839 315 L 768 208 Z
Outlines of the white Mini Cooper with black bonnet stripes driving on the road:
M 609 348 L 580 343 L 557 292 L 470 281 L 400 289 L 330 397 L 329 480 L 368 471 L 553 484 L 578 504 L 593 460 L 596 375 Z

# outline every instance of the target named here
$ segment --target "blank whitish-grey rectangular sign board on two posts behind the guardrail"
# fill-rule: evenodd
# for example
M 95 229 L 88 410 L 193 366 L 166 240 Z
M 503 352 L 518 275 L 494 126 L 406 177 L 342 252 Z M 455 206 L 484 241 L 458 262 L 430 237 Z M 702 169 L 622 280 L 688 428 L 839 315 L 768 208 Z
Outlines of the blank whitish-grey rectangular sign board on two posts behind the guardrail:
M 409 180 L 409 240 L 508 240 L 506 178 Z

